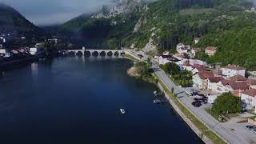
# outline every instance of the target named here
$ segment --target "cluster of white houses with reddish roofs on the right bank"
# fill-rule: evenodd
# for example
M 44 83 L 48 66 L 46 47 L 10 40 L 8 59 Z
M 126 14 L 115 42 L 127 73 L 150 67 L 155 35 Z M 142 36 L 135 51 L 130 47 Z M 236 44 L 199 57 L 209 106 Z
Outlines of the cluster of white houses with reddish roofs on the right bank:
M 195 43 L 198 41 L 198 39 L 194 40 Z M 196 53 L 202 52 L 202 49 L 179 43 L 176 50 L 176 54 L 163 53 L 155 58 L 158 58 L 160 65 L 174 62 L 181 70 L 191 71 L 194 89 L 202 90 L 209 97 L 216 99 L 223 93 L 231 92 L 235 97 L 241 98 L 246 109 L 256 111 L 256 79 L 246 78 L 245 68 L 235 65 L 212 68 L 207 66 L 203 60 L 194 58 Z M 209 56 L 214 56 L 217 50 L 217 47 L 208 46 L 204 52 Z

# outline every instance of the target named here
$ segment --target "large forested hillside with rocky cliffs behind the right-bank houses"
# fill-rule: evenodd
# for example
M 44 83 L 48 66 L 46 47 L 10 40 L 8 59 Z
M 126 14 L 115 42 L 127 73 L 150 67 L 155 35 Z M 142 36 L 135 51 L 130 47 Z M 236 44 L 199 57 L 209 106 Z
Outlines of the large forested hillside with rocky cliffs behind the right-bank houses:
M 245 11 L 252 6 L 246 0 L 159 0 L 128 14 L 72 22 L 79 23 L 82 38 L 98 39 L 98 46 L 122 44 L 149 54 L 155 49 L 174 51 L 178 42 L 192 45 L 193 38 L 202 38 L 198 46 L 218 46 L 218 52 L 198 58 L 254 69 L 256 13 Z

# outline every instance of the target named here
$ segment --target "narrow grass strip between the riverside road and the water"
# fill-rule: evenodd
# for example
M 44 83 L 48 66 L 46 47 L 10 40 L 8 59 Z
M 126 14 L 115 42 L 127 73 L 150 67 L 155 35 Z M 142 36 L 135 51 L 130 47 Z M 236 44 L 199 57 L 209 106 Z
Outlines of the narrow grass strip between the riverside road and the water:
M 154 74 L 154 76 L 158 78 L 157 74 Z M 182 103 L 178 101 L 178 99 L 174 96 L 174 94 L 172 94 L 170 90 L 167 89 L 166 85 L 164 85 L 162 81 L 158 81 L 158 82 L 160 82 L 162 88 L 166 91 L 170 99 L 175 103 L 176 106 L 178 106 L 179 110 L 181 110 L 182 113 L 186 115 L 186 118 L 189 118 L 190 121 L 193 122 L 194 125 L 198 127 L 198 130 L 202 132 L 202 136 L 205 135 L 207 138 L 210 138 L 210 140 L 214 143 L 218 143 L 218 144 L 226 143 L 222 140 L 222 138 L 219 138 L 218 135 L 214 134 L 212 130 L 208 129 L 202 122 L 200 122 L 198 118 L 194 116 L 194 114 L 191 114 L 190 111 L 187 110 L 186 107 L 183 106 Z

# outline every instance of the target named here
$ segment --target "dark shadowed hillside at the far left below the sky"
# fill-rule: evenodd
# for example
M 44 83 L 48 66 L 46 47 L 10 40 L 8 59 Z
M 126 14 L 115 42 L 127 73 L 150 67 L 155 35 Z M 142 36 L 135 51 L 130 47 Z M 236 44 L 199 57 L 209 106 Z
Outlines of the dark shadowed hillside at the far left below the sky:
M 29 37 L 36 34 L 37 26 L 34 26 L 14 8 L 0 3 L 0 33 L 23 34 Z

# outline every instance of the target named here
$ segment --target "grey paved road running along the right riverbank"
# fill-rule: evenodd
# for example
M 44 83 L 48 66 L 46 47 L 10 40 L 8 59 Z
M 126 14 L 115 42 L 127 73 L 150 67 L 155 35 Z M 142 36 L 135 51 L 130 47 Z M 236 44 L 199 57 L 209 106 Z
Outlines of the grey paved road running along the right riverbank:
M 182 102 L 183 105 L 185 105 L 190 110 L 190 112 L 192 112 L 199 120 L 204 122 L 212 130 L 214 130 L 214 132 L 217 133 L 219 136 L 226 139 L 226 142 L 232 144 L 249 143 L 246 142 L 245 139 L 242 139 L 241 135 L 234 134 L 230 128 L 223 126 L 221 122 L 218 122 L 216 119 L 210 116 L 210 114 L 206 113 L 204 108 L 195 108 L 194 106 L 192 106 L 191 103 L 193 102 L 193 100 L 186 95 L 186 90 L 184 88 L 175 86 L 174 82 L 172 82 L 162 70 L 154 68 L 154 71 L 158 75 L 158 77 L 162 79 L 162 82 L 165 83 L 169 90 L 171 90 L 172 87 L 174 88 L 174 93 L 177 94 L 180 102 Z

